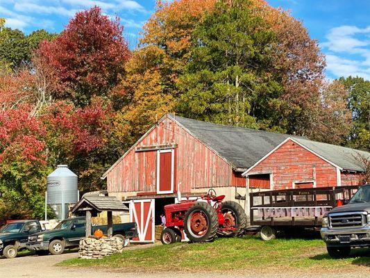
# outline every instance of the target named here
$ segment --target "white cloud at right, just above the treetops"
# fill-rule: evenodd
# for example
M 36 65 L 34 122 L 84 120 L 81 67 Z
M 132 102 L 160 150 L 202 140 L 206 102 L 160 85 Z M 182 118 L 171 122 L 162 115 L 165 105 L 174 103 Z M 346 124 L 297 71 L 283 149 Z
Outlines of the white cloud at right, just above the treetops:
M 335 77 L 361 76 L 370 79 L 370 26 L 339 26 L 330 29 L 326 42 L 327 71 Z

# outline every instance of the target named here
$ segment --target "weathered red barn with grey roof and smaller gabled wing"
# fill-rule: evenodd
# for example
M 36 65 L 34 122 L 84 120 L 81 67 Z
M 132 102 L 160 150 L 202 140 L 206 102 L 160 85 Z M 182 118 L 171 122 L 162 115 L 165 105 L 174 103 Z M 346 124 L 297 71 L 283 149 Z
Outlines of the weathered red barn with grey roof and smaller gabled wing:
M 367 152 L 280 133 L 167 114 L 103 174 L 109 195 L 130 201 L 139 240 L 153 242 L 163 206 L 209 188 L 247 208 L 254 190 L 357 185 Z M 249 189 L 248 189 L 249 190 Z M 253 190 L 253 189 L 251 189 Z

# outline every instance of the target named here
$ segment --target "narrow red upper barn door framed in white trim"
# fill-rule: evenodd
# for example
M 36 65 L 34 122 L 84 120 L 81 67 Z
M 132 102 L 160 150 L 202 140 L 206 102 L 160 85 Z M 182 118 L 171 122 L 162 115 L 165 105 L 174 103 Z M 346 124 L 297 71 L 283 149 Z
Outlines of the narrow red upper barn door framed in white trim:
M 157 151 L 157 193 L 174 193 L 174 149 Z

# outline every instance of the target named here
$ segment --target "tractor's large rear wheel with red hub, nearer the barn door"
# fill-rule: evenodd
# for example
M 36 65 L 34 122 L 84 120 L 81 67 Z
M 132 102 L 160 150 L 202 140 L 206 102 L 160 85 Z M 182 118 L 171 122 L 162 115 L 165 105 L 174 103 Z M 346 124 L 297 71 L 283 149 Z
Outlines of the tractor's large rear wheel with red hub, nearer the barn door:
M 196 202 L 185 214 L 184 231 L 194 243 L 212 241 L 218 227 L 217 212 L 206 202 Z

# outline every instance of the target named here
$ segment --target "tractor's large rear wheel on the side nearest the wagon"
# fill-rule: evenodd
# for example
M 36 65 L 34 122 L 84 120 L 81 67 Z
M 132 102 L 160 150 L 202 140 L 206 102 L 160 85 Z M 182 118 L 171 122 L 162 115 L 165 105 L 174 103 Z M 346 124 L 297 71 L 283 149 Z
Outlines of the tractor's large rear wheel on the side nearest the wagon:
M 234 201 L 226 201 L 221 203 L 221 213 L 225 222 L 219 227 L 220 236 L 239 236 L 244 232 L 246 214 L 242 206 Z

